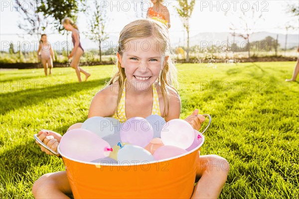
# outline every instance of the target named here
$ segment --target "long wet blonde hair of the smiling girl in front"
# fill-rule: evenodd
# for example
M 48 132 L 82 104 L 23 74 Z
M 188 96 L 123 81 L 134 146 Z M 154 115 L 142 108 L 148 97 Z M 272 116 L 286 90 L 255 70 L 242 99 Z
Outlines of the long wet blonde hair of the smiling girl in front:
M 172 89 L 175 92 L 177 90 L 175 89 L 177 85 L 176 80 L 176 68 L 170 58 L 170 41 L 169 41 L 169 35 L 168 35 L 168 28 L 162 24 L 161 22 L 158 22 L 153 19 L 138 19 L 135 20 L 129 24 L 127 24 L 123 30 L 120 33 L 119 43 L 118 43 L 118 50 L 117 52 L 123 56 L 124 49 L 126 49 L 126 44 L 134 39 L 142 39 L 153 36 L 154 39 L 159 43 L 159 50 L 162 57 L 162 63 L 165 60 L 165 56 L 168 56 L 168 60 L 165 63 L 165 66 L 161 69 L 160 75 L 157 79 L 158 85 L 160 85 L 160 89 L 162 92 L 162 97 L 164 101 L 164 110 L 162 115 L 167 117 L 168 110 L 169 110 L 169 102 L 168 102 L 168 89 Z M 126 79 L 125 74 L 125 68 L 121 67 L 121 63 L 118 59 L 116 59 L 116 65 L 118 68 L 118 71 L 116 74 L 111 78 L 111 80 L 108 82 L 108 85 L 113 84 L 114 82 L 118 82 L 118 99 L 117 99 L 117 109 L 120 104 L 122 92 L 124 89 L 124 81 Z M 107 85 L 107 86 L 108 86 Z M 166 111 L 167 107 L 167 111 Z M 116 111 L 118 115 L 118 111 Z

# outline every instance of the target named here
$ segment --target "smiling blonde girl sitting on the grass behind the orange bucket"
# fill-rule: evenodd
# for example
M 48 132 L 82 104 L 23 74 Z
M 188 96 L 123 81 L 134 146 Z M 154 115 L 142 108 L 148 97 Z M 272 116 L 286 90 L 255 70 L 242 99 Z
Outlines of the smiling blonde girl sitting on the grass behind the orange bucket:
M 148 47 L 145 50 L 145 43 Z M 121 122 L 132 117 L 146 118 L 157 114 L 165 121 L 180 116 L 181 101 L 174 87 L 175 66 L 169 55 L 168 29 L 152 19 L 139 19 L 126 25 L 120 33 L 117 51 L 118 72 L 106 88 L 93 98 L 88 118 L 114 117 Z M 204 121 L 198 110 L 187 121 L 199 130 Z M 40 131 L 39 139 L 57 151 L 61 135 L 52 131 Z M 43 152 L 50 154 L 44 147 Z M 53 154 L 51 154 L 53 155 Z M 225 167 L 221 167 L 225 166 Z M 199 157 L 192 198 L 216 199 L 226 182 L 228 162 L 216 155 Z M 45 174 L 32 187 L 36 198 L 67 199 L 72 194 L 65 171 Z

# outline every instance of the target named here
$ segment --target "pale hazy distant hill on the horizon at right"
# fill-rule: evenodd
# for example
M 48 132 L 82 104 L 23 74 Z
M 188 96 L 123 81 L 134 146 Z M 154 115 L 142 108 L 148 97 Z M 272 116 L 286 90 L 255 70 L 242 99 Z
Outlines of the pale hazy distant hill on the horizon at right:
M 262 40 L 267 36 L 271 36 L 274 39 L 277 37 L 277 33 L 272 32 L 256 32 L 253 33 L 250 37 L 250 42 L 252 41 L 258 41 Z M 198 33 L 195 36 L 190 37 L 190 44 L 193 45 L 200 45 L 200 43 L 205 44 L 204 42 L 212 43 L 213 45 L 217 45 L 217 42 L 221 44 L 222 41 L 227 41 L 227 38 L 229 42 L 233 40 L 233 36 L 230 32 L 202 32 Z M 235 36 L 235 40 L 239 41 L 241 43 L 242 41 L 245 41 L 243 38 L 239 36 Z M 280 44 L 280 47 L 285 47 L 285 40 L 286 40 L 286 34 L 278 34 L 278 43 Z M 173 43 L 174 46 L 179 45 L 178 42 Z M 288 34 L 288 40 L 287 40 L 287 48 L 291 48 L 294 46 L 299 45 L 299 34 Z

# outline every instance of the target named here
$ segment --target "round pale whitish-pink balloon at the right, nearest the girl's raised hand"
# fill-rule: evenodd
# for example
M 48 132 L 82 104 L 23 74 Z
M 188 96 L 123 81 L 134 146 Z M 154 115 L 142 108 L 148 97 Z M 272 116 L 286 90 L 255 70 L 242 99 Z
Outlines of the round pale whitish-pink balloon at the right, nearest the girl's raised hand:
M 194 130 L 185 120 L 173 119 L 163 126 L 161 140 L 164 145 L 187 149 L 194 141 Z

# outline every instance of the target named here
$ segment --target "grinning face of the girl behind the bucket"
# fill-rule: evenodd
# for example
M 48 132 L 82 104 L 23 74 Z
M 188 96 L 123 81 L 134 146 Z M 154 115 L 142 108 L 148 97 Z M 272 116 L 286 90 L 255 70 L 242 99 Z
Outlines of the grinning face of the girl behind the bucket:
M 161 45 L 153 36 L 133 39 L 125 44 L 122 55 L 117 53 L 127 81 L 137 90 L 148 90 L 159 77 L 167 58 L 160 53 Z

